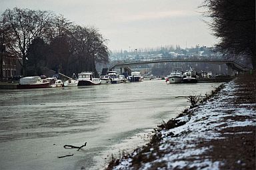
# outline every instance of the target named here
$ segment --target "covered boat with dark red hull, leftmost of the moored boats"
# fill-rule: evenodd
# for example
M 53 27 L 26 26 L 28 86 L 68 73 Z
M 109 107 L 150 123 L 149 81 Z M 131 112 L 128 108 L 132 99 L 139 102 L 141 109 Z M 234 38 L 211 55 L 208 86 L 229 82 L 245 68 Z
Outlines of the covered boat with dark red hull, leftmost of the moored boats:
M 39 76 L 27 76 L 19 80 L 17 88 L 49 88 L 50 82 Z

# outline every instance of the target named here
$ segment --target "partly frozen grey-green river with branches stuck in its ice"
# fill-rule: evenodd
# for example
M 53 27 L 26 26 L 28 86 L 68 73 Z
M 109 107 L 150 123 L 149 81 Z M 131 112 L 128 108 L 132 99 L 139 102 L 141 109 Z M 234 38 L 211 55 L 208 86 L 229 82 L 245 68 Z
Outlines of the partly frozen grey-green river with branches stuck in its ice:
M 157 125 L 220 83 L 124 84 L 0 90 L 0 169 L 102 169 L 149 140 Z M 63 145 L 83 149 L 65 149 Z M 58 158 L 59 156 L 73 155 Z

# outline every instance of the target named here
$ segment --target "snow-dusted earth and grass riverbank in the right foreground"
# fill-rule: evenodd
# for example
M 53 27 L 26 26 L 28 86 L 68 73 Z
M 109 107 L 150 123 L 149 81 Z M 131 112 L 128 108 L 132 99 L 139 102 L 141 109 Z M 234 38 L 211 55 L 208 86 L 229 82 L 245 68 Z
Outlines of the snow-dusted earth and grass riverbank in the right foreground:
M 224 84 L 107 169 L 255 169 L 256 75 Z

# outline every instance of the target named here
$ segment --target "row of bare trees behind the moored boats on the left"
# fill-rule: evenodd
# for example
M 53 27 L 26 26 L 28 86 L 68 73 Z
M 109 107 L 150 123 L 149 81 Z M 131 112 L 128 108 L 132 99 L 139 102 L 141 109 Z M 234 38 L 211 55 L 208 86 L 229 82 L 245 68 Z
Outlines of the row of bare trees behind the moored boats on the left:
M 81 71 L 97 74 L 95 63 L 109 62 L 103 35 L 93 27 L 74 25 L 62 15 L 14 8 L 5 10 L 0 22 L 1 58 L 3 54 L 17 56 L 23 76 L 40 75 L 42 67 L 69 76 Z

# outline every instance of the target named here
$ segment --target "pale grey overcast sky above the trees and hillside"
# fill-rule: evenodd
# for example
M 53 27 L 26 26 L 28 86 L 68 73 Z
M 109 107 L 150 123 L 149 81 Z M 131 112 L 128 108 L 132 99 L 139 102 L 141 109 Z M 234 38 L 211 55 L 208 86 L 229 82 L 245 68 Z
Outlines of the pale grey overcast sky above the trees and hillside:
M 179 44 L 213 46 L 217 41 L 197 7 L 203 0 L 0 0 L 0 11 L 53 11 L 99 30 L 110 50 Z

